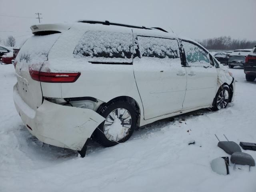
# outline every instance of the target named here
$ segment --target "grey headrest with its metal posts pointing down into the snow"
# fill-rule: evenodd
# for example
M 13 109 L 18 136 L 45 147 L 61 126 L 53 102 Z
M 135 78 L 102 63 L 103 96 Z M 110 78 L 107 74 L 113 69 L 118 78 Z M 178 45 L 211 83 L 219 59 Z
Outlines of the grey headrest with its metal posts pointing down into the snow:
M 243 152 L 234 152 L 231 155 L 230 161 L 234 163 L 234 170 L 236 169 L 236 164 L 249 165 L 249 171 L 251 166 L 255 166 L 254 158 L 252 158 L 251 155 Z

